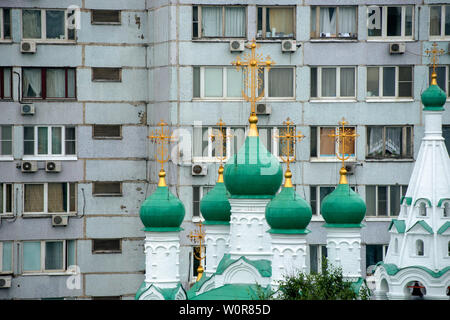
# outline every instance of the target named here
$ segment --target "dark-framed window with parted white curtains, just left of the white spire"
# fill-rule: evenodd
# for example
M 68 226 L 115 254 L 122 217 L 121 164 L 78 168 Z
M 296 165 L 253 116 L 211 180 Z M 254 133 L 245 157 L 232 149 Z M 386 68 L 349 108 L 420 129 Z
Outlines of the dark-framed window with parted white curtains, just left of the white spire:
M 412 127 L 368 126 L 367 159 L 413 157 Z

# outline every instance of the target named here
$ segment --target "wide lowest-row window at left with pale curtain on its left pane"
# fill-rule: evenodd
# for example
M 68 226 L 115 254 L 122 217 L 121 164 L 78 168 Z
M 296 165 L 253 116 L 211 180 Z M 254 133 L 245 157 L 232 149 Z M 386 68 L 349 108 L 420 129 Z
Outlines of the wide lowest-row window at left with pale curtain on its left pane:
M 23 265 L 26 272 L 61 272 L 75 265 L 75 240 L 24 241 Z

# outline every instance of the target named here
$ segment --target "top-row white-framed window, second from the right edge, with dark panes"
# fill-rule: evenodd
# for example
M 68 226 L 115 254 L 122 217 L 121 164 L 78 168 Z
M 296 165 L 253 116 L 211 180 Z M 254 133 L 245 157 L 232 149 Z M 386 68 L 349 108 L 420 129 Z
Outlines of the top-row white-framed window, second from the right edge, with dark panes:
M 369 39 L 413 39 L 414 6 L 369 6 Z

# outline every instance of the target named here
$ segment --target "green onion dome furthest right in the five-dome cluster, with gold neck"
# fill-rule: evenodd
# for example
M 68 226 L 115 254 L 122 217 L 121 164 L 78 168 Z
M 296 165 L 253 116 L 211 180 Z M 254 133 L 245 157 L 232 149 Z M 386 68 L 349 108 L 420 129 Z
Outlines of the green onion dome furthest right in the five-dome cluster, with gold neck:
M 346 173 L 345 168 L 340 170 L 341 181 Z M 348 183 L 340 183 L 323 199 L 321 213 L 326 222 L 325 227 L 356 228 L 362 226 L 366 204 Z

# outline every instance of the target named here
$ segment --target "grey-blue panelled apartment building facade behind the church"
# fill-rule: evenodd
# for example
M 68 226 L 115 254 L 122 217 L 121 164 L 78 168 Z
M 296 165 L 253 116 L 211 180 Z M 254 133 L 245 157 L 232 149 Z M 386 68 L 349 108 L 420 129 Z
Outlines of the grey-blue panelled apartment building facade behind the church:
M 276 62 L 263 72 L 261 140 L 279 155 L 288 117 L 306 136 L 291 170 L 313 208 L 310 269 L 326 255 L 320 203 L 340 167 L 328 134 L 343 117 L 359 135 L 347 164 L 367 204 L 362 270 L 383 258 L 423 137 L 425 50 L 450 43 L 445 1 L 0 4 L 1 299 L 134 298 L 144 279 L 139 208 L 159 171 L 147 136 L 161 120 L 180 137 L 166 180 L 186 208 L 180 276 L 194 281 L 187 235 L 219 166 L 209 136 L 221 118 L 227 156 L 244 141 L 250 106 L 230 63 L 252 39 Z M 449 66 L 440 56 L 448 95 Z M 448 111 L 443 121 L 450 149 Z

